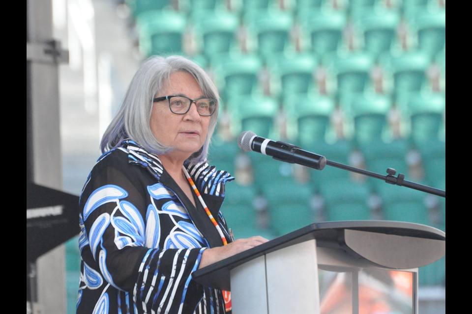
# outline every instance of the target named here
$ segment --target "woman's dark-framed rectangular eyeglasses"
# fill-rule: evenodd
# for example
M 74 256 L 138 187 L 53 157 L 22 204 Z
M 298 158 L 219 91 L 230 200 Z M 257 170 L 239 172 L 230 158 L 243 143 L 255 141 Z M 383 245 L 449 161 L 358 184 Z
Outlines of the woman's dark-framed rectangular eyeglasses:
M 192 103 L 197 106 L 197 111 L 201 116 L 211 116 L 215 112 L 216 100 L 211 98 L 199 98 L 196 100 L 190 99 L 185 96 L 165 96 L 154 98 L 154 103 L 162 102 L 163 100 L 169 101 L 169 108 L 175 114 L 186 114 L 190 110 Z

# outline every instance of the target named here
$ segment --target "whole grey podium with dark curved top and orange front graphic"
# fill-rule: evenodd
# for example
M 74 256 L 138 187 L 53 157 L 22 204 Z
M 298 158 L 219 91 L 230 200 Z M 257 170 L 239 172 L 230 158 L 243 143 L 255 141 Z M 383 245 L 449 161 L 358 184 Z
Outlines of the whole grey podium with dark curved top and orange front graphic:
M 313 224 L 193 273 L 230 290 L 233 314 L 418 314 L 418 267 L 445 255 L 445 233 L 392 221 Z M 381 312 L 379 312 L 381 313 Z

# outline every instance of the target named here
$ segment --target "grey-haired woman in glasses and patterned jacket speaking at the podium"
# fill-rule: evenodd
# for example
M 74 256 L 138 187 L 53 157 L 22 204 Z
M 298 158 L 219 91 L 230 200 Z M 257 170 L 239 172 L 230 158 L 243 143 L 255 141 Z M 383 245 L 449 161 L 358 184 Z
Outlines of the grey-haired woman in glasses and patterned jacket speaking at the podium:
M 232 241 L 219 212 L 234 178 L 206 163 L 218 99 L 183 57 L 149 59 L 136 73 L 81 197 L 77 313 L 230 310 L 192 272 L 267 240 Z

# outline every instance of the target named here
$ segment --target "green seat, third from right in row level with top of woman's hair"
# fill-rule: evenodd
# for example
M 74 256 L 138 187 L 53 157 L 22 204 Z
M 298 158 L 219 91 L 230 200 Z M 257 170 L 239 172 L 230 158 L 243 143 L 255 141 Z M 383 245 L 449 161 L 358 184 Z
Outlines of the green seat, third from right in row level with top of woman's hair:
M 284 55 L 269 61 L 272 73 L 280 78 L 282 99 L 296 94 L 308 94 L 315 89 L 314 73 L 318 67 L 311 54 Z

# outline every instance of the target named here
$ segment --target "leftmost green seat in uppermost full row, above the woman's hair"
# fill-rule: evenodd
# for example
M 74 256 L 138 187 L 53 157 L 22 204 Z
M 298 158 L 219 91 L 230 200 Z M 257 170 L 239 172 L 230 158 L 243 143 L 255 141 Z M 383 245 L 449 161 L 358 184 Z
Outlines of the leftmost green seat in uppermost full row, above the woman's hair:
M 140 35 L 140 52 L 153 54 L 182 54 L 184 15 L 174 11 L 149 11 L 139 15 L 136 25 Z

